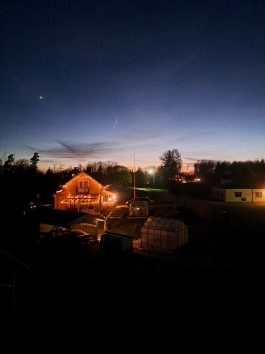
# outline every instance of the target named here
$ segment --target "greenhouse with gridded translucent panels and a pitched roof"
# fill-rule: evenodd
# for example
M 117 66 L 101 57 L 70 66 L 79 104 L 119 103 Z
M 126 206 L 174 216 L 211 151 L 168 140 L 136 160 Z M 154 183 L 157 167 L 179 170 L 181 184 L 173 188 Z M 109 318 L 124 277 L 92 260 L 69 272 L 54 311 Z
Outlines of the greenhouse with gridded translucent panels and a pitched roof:
M 149 216 L 141 227 L 143 248 L 174 252 L 188 241 L 188 227 L 179 219 Z

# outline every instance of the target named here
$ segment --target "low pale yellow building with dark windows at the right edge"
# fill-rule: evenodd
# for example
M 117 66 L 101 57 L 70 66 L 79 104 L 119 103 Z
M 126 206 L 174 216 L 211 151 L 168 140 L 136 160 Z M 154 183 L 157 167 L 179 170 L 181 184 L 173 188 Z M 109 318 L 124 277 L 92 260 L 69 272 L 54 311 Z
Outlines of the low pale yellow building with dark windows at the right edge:
M 265 202 L 262 188 L 213 188 L 213 198 L 224 202 Z

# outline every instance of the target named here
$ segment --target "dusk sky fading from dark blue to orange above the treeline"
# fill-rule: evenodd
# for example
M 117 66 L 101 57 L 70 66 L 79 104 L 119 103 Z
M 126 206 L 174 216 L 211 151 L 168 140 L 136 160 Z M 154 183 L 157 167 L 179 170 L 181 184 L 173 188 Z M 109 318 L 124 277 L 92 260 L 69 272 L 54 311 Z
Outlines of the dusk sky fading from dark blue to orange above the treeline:
M 264 1 L 2 1 L 0 157 L 265 158 Z M 184 168 L 186 169 L 186 167 Z

